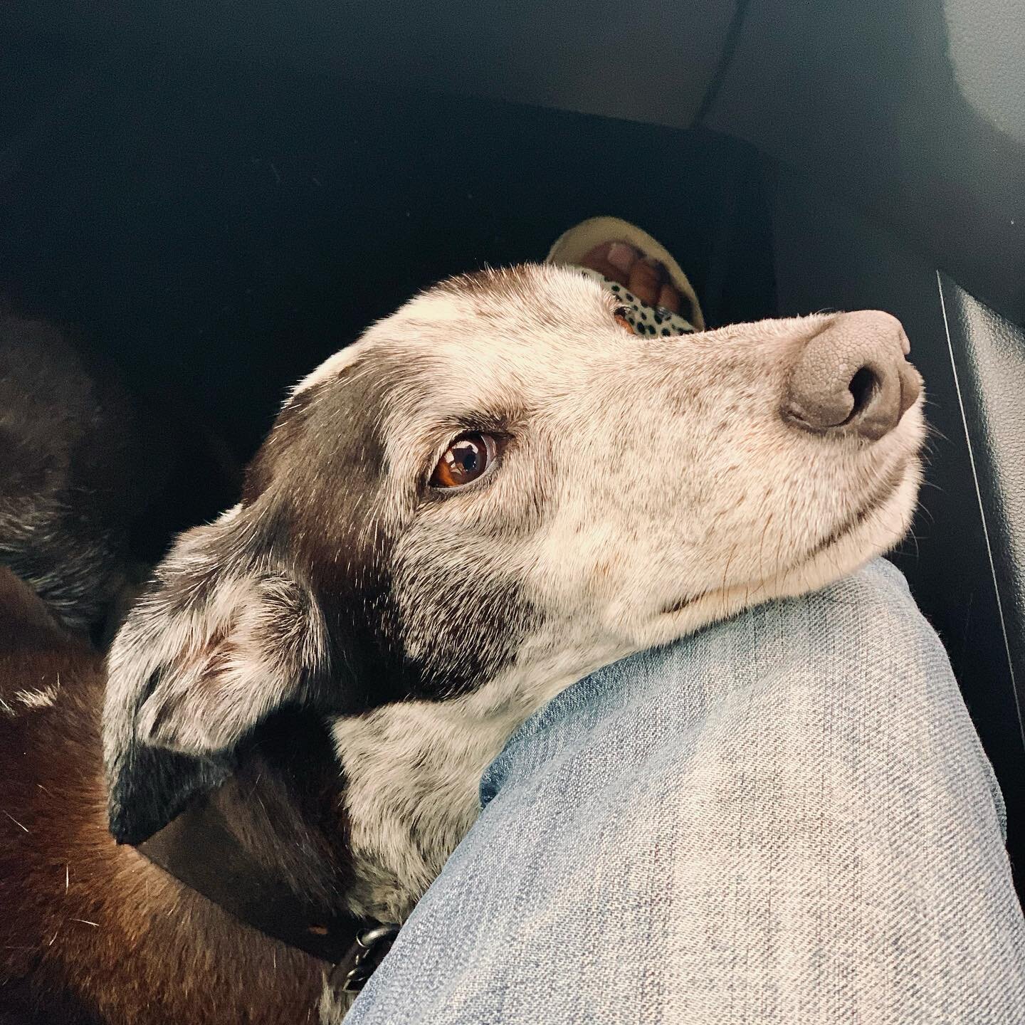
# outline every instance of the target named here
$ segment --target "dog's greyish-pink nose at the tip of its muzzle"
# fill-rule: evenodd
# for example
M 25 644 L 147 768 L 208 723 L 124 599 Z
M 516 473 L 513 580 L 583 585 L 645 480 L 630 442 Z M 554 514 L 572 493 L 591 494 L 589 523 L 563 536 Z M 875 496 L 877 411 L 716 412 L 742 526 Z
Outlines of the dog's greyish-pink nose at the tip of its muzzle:
M 910 344 L 896 317 L 879 310 L 839 314 L 806 342 L 781 413 L 794 426 L 877 441 L 900 422 L 921 391 L 905 357 Z

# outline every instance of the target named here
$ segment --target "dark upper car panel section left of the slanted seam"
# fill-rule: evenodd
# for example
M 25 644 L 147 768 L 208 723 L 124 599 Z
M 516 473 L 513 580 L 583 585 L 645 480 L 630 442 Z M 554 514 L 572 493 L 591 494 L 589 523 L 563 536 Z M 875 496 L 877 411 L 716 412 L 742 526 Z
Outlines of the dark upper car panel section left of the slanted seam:
M 338 96 L 346 80 L 369 81 L 689 125 L 733 12 L 732 0 L 629 10 L 617 0 L 33 0 L 0 4 L 0 39 L 71 32 L 84 45 L 321 75 Z

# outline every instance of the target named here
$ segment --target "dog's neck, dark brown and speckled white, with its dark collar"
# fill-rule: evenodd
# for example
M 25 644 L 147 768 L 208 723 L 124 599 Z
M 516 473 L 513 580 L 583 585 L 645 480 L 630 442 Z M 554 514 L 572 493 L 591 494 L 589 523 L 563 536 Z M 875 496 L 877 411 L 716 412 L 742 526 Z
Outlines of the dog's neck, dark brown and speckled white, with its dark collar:
M 172 823 L 158 834 L 173 842 L 173 857 L 184 852 L 183 868 L 142 851 L 243 920 L 333 956 L 336 945 L 323 940 L 333 924 L 405 921 L 477 819 L 481 776 L 517 727 L 617 654 L 602 650 L 593 665 L 583 656 L 538 659 L 532 672 L 510 671 L 459 698 L 393 702 L 329 728 L 312 714 L 279 715 L 246 746 L 238 771 L 175 820 L 177 833 Z M 211 861 L 204 837 L 225 831 L 241 858 L 239 881 L 211 893 L 198 874 Z M 219 857 L 222 880 L 228 861 Z M 287 895 L 284 906 L 260 897 L 271 889 Z

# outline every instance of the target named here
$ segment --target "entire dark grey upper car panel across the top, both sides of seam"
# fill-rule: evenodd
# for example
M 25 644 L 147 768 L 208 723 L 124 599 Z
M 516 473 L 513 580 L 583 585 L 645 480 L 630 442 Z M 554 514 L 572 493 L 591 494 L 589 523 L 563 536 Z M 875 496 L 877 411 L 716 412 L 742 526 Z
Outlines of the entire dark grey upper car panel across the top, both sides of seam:
M 0 5 L 0 38 L 18 31 L 131 67 L 158 48 L 300 71 L 339 101 L 369 81 L 680 127 L 700 115 L 890 223 L 1025 323 L 1020 0 Z M 640 171 L 655 159 L 643 146 L 632 155 Z

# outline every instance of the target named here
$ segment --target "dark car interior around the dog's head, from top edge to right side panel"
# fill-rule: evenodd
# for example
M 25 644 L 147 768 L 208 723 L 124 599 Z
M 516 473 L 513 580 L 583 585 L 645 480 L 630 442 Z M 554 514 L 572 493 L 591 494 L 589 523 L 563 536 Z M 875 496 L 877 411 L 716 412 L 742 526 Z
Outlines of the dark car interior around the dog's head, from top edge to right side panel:
M 949 652 L 1025 878 L 1025 7 L 596 0 L 0 7 L 0 292 L 240 466 L 411 294 L 611 213 L 711 327 L 903 322 L 927 486 L 892 558 Z M 136 537 L 235 501 L 207 454 Z

